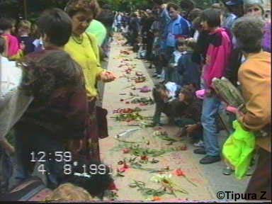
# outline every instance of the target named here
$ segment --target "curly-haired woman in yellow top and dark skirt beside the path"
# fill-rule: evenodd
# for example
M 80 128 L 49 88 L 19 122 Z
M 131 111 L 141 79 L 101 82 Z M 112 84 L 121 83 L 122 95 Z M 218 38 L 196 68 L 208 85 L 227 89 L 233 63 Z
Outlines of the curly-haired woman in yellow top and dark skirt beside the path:
M 99 59 L 98 45 L 94 35 L 87 34 L 85 30 L 89 27 L 91 21 L 99 12 L 99 6 L 96 1 L 92 0 L 72 0 L 69 1 L 65 11 L 72 18 L 72 36 L 69 39 L 64 50 L 68 52 L 72 58 L 78 62 L 84 72 L 86 83 L 86 91 L 89 100 L 90 125 L 87 130 L 86 140 L 80 144 L 79 149 L 84 145 L 84 155 L 88 155 L 89 159 L 100 161 L 98 138 L 108 136 L 107 131 L 98 132 L 96 113 L 96 98 L 98 96 L 97 82 L 110 82 L 115 79 L 111 72 L 107 72 L 101 67 Z M 60 30 L 62 35 L 62 30 Z M 101 110 L 101 109 L 99 109 Z M 106 118 L 106 113 L 102 116 Z M 106 119 L 103 120 L 106 123 Z M 105 124 L 103 124 L 105 126 Z M 101 124 L 99 124 L 101 126 Z M 100 130 L 100 129 L 99 129 Z M 77 146 L 77 145 L 76 145 Z

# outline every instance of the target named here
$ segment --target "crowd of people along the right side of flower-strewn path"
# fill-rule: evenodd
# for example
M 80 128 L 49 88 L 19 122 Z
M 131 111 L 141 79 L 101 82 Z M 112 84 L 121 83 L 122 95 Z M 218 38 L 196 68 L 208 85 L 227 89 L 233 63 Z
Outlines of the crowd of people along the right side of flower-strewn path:
M 160 0 L 153 3 L 152 10 L 116 13 L 115 28 L 127 39 L 125 45 L 132 46 L 140 59 L 150 63 L 149 69 L 154 69 L 152 77 L 161 79 L 153 89 L 154 125 L 161 125 L 160 115 L 164 113 L 170 123 L 181 127 L 180 136 L 191 135 L 194 145 L 199 147 L 194 153 L 205 155 L 200 164 L 221 160 L 218 137 L 227 125 L 222 123 L 219 113 L 229 115 L 231 127 L 239 119 L 246 130 L 270 132 L 271 17 L 263 2 L 224 1 L 205 10 L 196 8 L 193 1 L 181 1 L 181 5 Z M 254 69 L 251 63 L 262 65 Z M 217 96 L 212 79 L 221 77 L 242 90 L 248 113 L 237 118 L 237 110 Z M 263 84 L 257 85 L 261 79 Z M 262 86 L 266 91 L 256 88 Z M 257 140 L 261 147 L 259 166 L 271 159 L 271 137 L 266 142 L 261 140 L 265 139 Z M 264 144 L 268 146 L 263 147 Z M 268 166 L 259 168 L 263 174 L 270 171 Z M 229 166 L 223 169 L 223 174 L 232 172 Z M 256 181 L 257 172 L 252 182 Z M 271 179 L 260 179 L 259 184 L 262 182 L 268 189 Z M 252 187 L 249 189 L 253 192 Z

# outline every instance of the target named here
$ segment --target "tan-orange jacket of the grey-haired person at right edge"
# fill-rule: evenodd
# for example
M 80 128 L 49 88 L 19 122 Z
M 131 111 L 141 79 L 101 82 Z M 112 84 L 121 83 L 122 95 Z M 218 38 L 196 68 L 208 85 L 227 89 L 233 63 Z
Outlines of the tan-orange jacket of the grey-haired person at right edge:
M 242 118 L 244 127 L 257 131 L 271 125 L 271 53 L 249 55 L 238 72 L 247 113 Z M 271 152 L 271 135 L 259 137 L 259 147 Z

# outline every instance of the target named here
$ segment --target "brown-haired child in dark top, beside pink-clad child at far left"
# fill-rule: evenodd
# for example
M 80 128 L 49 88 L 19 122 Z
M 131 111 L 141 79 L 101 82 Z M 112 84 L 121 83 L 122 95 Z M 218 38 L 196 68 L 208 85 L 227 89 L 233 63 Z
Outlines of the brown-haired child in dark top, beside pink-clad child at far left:
M 31 52 L 34 52 L 35 45 L 33 44 L 34 38 L 30 37 L 31 33 L 31 23 L 26 20 L 22 20 L 18 23 L 18 40 L 19 43 L 23 43 L 26 47 L 23 50 L 24 55 L 28 55 Z

